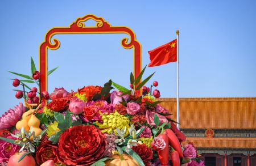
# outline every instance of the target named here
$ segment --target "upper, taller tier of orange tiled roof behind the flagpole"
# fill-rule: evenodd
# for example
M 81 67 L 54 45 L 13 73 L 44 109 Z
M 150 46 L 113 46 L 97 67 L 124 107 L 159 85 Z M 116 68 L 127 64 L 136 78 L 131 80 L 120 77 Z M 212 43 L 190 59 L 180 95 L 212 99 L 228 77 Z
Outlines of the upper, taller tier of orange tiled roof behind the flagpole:
M 161 105 L 176 120 L 176 99 Z M 256 97 L 181 98 L 181 129 L 256 129 Z

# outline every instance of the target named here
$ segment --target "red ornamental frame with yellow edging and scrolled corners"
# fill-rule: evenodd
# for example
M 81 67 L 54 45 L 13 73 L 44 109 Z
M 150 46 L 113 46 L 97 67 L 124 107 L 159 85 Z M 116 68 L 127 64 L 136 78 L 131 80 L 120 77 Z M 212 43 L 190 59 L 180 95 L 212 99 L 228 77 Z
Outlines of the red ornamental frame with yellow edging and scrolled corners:
M 88 27 L 85 25 L 86 20 L 92 19 L 96 22 L 95 27 Z M 133 52 L 133 72 L 135 78 L 141 73 L 142 67 L 142 49 L 139 41 L 136 40 L 135 33 L 129 27 L 112 26 L 103 18 L 97 17 L 93 14 L 85 15 L 78 18 L 75 22 L 71 23 L 69 27 L 55 27 L 50 29 L 45 36 L 44 42 L 39 47 L 39 71 L 41 73 L 41 91 L 47 91 L 48 87 L 48 66 L 47 57 L 48 49 L 56 50 L 60 47 L 60 41 L 52 39 L 54 35 L 59 34 L 101 34 L 101 33 L 125 33 L 129 35 L 121 40 L 121 45 L 125 49 L 134 48 Z M 141 91 L 140 91 L 141 92 Z

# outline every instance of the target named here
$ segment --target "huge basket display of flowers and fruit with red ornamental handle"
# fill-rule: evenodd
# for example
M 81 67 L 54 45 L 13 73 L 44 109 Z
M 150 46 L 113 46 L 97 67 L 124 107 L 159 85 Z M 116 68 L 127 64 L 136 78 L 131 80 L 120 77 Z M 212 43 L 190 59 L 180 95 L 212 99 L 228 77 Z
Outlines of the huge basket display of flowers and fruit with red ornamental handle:
M 83 28 L 80 20 L 85 18 L 70 28 Z M 109 25 L 102 21 L 98 28 Z M 40 49 L 47 48 L 51 37 L 47 40 Z M 138 42 L 126 41 L 123 45 L 137 47 L 141 56 Z M 59 45 L 54 42 L 51 49 Z M 138 58 L 137 51 L 134 56 Z M 40 54 L 42 62 L 47 55 Z M 40 63 L 39 72 L 31 57 L 31 75 L 11 72 L 18 77 L 13 86 L 20 103 L 0 118 L 0 164 L 204 165 L 192 143 L 181 146 L 185 135 L 172 120 L 172 110 L 160 105 L 157 89 L 145 86 L 154 74 L 142 79 L 146 67 L 141 70 L 141 61 L 138 64 L 134 74 L 130 73 L 129 88 L 108 80 L 102 86 L 76 91 L 63 87 L 47 91 L 46 75 L 57 67 L 47 71 Z M 155 81 L 151 87 L 157 86 Z

